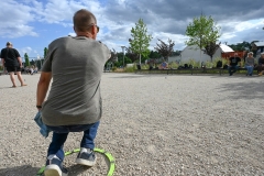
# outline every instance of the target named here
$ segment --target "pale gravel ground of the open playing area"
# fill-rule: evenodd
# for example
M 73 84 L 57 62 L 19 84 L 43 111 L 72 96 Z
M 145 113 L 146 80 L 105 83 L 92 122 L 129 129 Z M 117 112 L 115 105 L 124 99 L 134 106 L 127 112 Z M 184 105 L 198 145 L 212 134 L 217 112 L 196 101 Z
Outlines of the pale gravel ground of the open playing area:
M 40 75 L 10 88 L 0 76 L 0 175 L 34 176 L 51 136 L 33 118 Z M 103 74 L 103 118 L 96 145 L 116 158 L 114 176 L 264 175 L 264 78 L 234 75 Z M 67 96 L 67 95 L 65 95 Z M 70 133 L 65 151 L 79 147 Z M 65 158 L 69 176 L 103 176 Z

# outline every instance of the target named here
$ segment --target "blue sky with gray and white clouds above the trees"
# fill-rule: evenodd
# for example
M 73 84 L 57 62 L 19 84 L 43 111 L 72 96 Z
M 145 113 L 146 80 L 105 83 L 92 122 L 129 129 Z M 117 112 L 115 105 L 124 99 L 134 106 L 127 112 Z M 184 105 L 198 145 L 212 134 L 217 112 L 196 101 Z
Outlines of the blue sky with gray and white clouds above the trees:
M 43 56 L 43 48 L 61 36 L 74 34 L 73 14 L 90 10 L 98 20 L 98 40 L 121 52 L 129 46 L 131 29 L 143 19 L 153 36 L 172 38 L 175 50 L 183 50 L 187 25 L 193 18 L 211 15 L 221 26 L 219 42 L 264 41 L 263 0 L 0 0 L 0 44 L 8 41 L 23 56 Z

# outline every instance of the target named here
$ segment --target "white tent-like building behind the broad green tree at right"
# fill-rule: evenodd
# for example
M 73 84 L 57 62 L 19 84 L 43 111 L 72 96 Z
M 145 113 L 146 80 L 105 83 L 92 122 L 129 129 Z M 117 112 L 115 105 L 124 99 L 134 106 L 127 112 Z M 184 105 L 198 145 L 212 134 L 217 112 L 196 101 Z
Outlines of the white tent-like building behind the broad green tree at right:
M 229 52 L 234 52 L 234 51 L 228 45 L 220 44 L 220 47 L 216 51 L 215 55 L 212 56 L 212 59 L 219 58 L 221 57 L 222 53 L 229 53 Z M 168 57 L 168 63 L 189 62 L 190 59 L 194 59 L 196 62 L 211 62 L 210 56 L 205 54 L 204 51 L 201 51 L 201 57 L 200 57 L 200 48 L 198 46 L 186 46 L 182 51 L 180 56 Z

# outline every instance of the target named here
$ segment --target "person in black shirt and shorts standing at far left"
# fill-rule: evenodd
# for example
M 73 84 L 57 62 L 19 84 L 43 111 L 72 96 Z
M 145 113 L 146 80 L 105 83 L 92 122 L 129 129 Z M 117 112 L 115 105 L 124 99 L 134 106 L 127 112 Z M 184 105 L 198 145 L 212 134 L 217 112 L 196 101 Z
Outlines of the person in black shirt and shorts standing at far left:
M 18 75 L 18 79 L 21 84 L 21 86 L 26 86 L 23 81 L 23 78 L 21 76 L 21 68 L 22 68 L 22 59 L 20 57 L 19 52 L 13 48 L 13 45 L 11 42 L 7 43 L 7 47 L 1 50 L 1 58 L 2 58 L 2 65 L 7 68 L 10 79 L 13 84 L 13 88 L 16 87 L 14 81 L 14 74 Z

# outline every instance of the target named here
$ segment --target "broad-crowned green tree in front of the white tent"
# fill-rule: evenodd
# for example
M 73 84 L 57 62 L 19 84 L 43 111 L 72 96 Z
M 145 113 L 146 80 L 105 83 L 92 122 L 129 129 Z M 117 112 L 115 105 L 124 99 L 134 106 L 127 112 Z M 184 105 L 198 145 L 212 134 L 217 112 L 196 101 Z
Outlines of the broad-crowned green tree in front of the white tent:
M 193 22 L 186 29 L 186 35 L 189 40 L 186 41 L 188 46 L 197 45 L 200 48 L 200 59 L 201 50 L 205 48 L 210 43 L 216 43 L 220 37 L 220 28 L 215 24 L 211 16 L 200 15 L 199 18 L 194 18 Z

